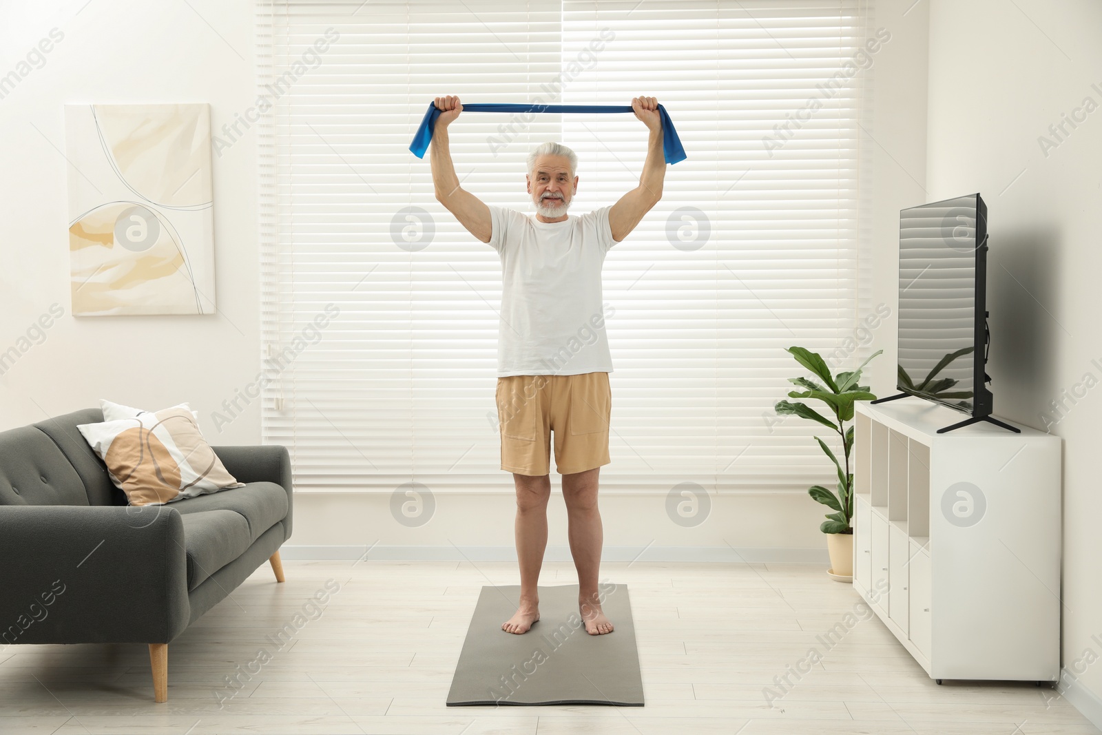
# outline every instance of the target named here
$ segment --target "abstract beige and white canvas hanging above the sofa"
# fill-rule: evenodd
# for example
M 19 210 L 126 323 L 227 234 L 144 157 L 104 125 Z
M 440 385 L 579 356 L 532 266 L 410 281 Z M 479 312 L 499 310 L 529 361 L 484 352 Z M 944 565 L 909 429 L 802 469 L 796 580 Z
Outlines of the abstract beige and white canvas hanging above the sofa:
M 210 106 L 66 105 L 73 314 L 213 314 Z

